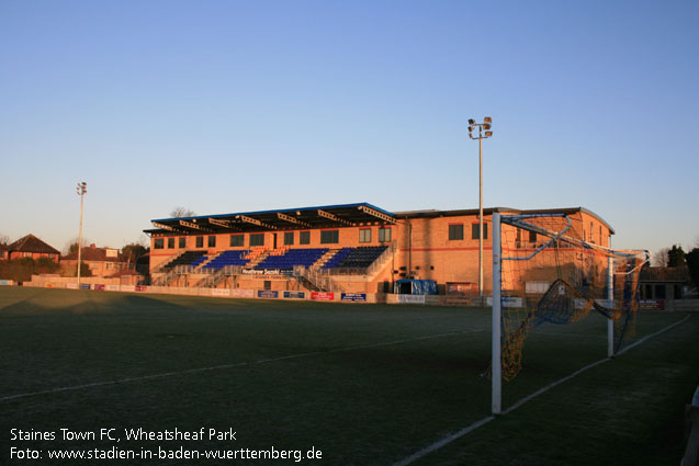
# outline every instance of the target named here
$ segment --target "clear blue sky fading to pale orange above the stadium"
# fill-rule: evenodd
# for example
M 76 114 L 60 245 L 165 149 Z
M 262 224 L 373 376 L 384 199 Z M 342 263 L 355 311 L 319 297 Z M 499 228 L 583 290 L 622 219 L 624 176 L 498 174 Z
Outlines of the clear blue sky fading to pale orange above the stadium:
M 699 246 L 697 1 L 0 0 L 0 235 L 199 215 L 583 206 Z

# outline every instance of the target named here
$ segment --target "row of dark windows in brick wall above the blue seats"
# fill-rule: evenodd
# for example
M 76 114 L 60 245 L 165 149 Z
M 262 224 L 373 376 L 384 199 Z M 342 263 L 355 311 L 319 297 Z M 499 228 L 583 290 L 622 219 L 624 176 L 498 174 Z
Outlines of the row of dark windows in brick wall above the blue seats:
M 187 248 L 187 237 L 180 238 L 156 238 L 154 240 L 155 249 L 165 249 L 167 239 L 167 248 L 174 249 L 174 240 L 178 240 L 178 248 L 184 249 Z M 293 246 L 296 241 L 296 231 L 285 231 L 284 232 L 284 246 Z M 379 241 L 388 242 L 391 241 L 391 228 L 379 228 Z M 322 245 L 337 245 L 340 242 L 340 230 L 322 230 L 320 231 L 320 243 Z M 359 230 L 359 242 L 371 242 L 371 228 L 361 228 Z M 298 231 L 298 245 L 311 245 L 311 231 Z M 245 246 L 245 235 L 230 235 L 230 247 L 244 247 Z M 264 246 L 264 234 L 249 234 L 248 235 L 248 246 Z M 195 248 L 204 247 L 204 237 L 198 236 L 194 239 Z M 216 247 L 216 237 L 210 236 L 206 237 L 206 247 L 215 248 Z

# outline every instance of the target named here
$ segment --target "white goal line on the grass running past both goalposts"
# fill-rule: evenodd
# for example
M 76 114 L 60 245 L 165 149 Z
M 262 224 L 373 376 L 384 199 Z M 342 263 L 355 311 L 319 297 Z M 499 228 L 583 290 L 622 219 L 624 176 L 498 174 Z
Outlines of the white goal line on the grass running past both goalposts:
M 669 329 L 672 329 L 674 327 L 677 327 L 680 323 L 684 323 L 685 321 L 687 321 L 689 319 L 689 317 L 691 317 L 691 316 L 687 315 L 687 317 L 685 317 L 683 320 L 677 321 L 677 322 L 675 322 L 675 323 L 673 323 L 670 326 L 667 326 L 664 329 L 661 329 L 661 330 L 656 331 L 655 333 L 651 333 L 649 336 L 645 336 L 644 338 L 642 338 L 641 340 L 636 341 L 635 343 L 624 348 L 622 351 L 617 353 L 617 355 L 623 354 L 628 350 L 630 350 L 630 349 L 632 349 L 634 346 L 638 346 L 639 344 L 643 343 L 644 341 L 646 341 L 646 340 L 649 340 L 649 339 L 651 339 L 653 337 L 657 337 L 658 334 L 664 333 L 664 332 L 668 331 Z M 554 382 L 554 383 L 552 383 L 550 385 L 546 385 L 545 387 L 534 391 L 533 394 L 531 394 L 529 396 L 526 396 L 525 398 L 522 398 L 519 401 L 517 401 L 515 405 L 512 405 L 509 408 L 507 408 L 505 411 L 503 411 L 503 416 L 509 414 L 514 410 L 520 408 L 526 402 L 531 401 L 532 399 L 537 398 L 539 395 L 541 395 L 541 394 L 543 394 L 545 391 L 549 391 L 551 388 L 553 388 L 553 387 L 555 387 L 557 385 L 561 385 L 561 384 L 570 380 L 571 378 L 576 377 L 576 376 L 580 375 L 582 373 L 584 373 L 584 372 L 586 372 L 586 371 L 588 371 L 588 370 L 590 370 L 590 368 L 593 368 L 595 366 L 598 366 L 598 365 L 600 365 L 602 363 L 606 363 L 607 361 L 610 361 L 610 359 L 609 357 L 605 357 L 604 360 L 595 361 L 594 363 L 588 364 L 585 367 L 575 371 L 573 374 L 567 375 L 567 376 L 565 376 L 565 377 L 563 377 L 563 378 L 561 378 L 561 379 L 559 379 L 559 380 L 556 380 L 556 382 Z M 416 453 L 411 454 L 410 456 L 408 456 L 408 457 L 395 463 L 393 466 L 407 466 L 409 464 L 413 464 L 414 462 L 420 459 L 421 457 L 429 455 L 430 453 L 441 448 L 444 445 L 448 445 L 449 443 L 451 443 L 454 440 L 458 440 L 458 439 L 464 436 L 465 434 L 467 434 L 470 432 L 473 432 L 474 430 L 478 429 L 480 427 L 483 427 L 483 425 L 487 424 L 488 422 L 491 422 L 491 421 L 493 421 L 495 419 L 496 419 L 495 416 L 488 416 L 487 418 L 483 418 L 480 421 L 474 422 L 473 424 L 469 425 L 467 428 L 464 428 L 464 429 L 460 430 L 459 432 L 455 432 L 455 433 L 453 433 L 453 434 L 451 434 L 451 435 L 449 435 L 449 436 L 447 436 L 447 437 L 444 437 L 444 439 L 442 439 L 442 440 L 440 440 L 438 442 L 435 442 L 431 445 L 420 450 L 419 452 L 416 452 Z

